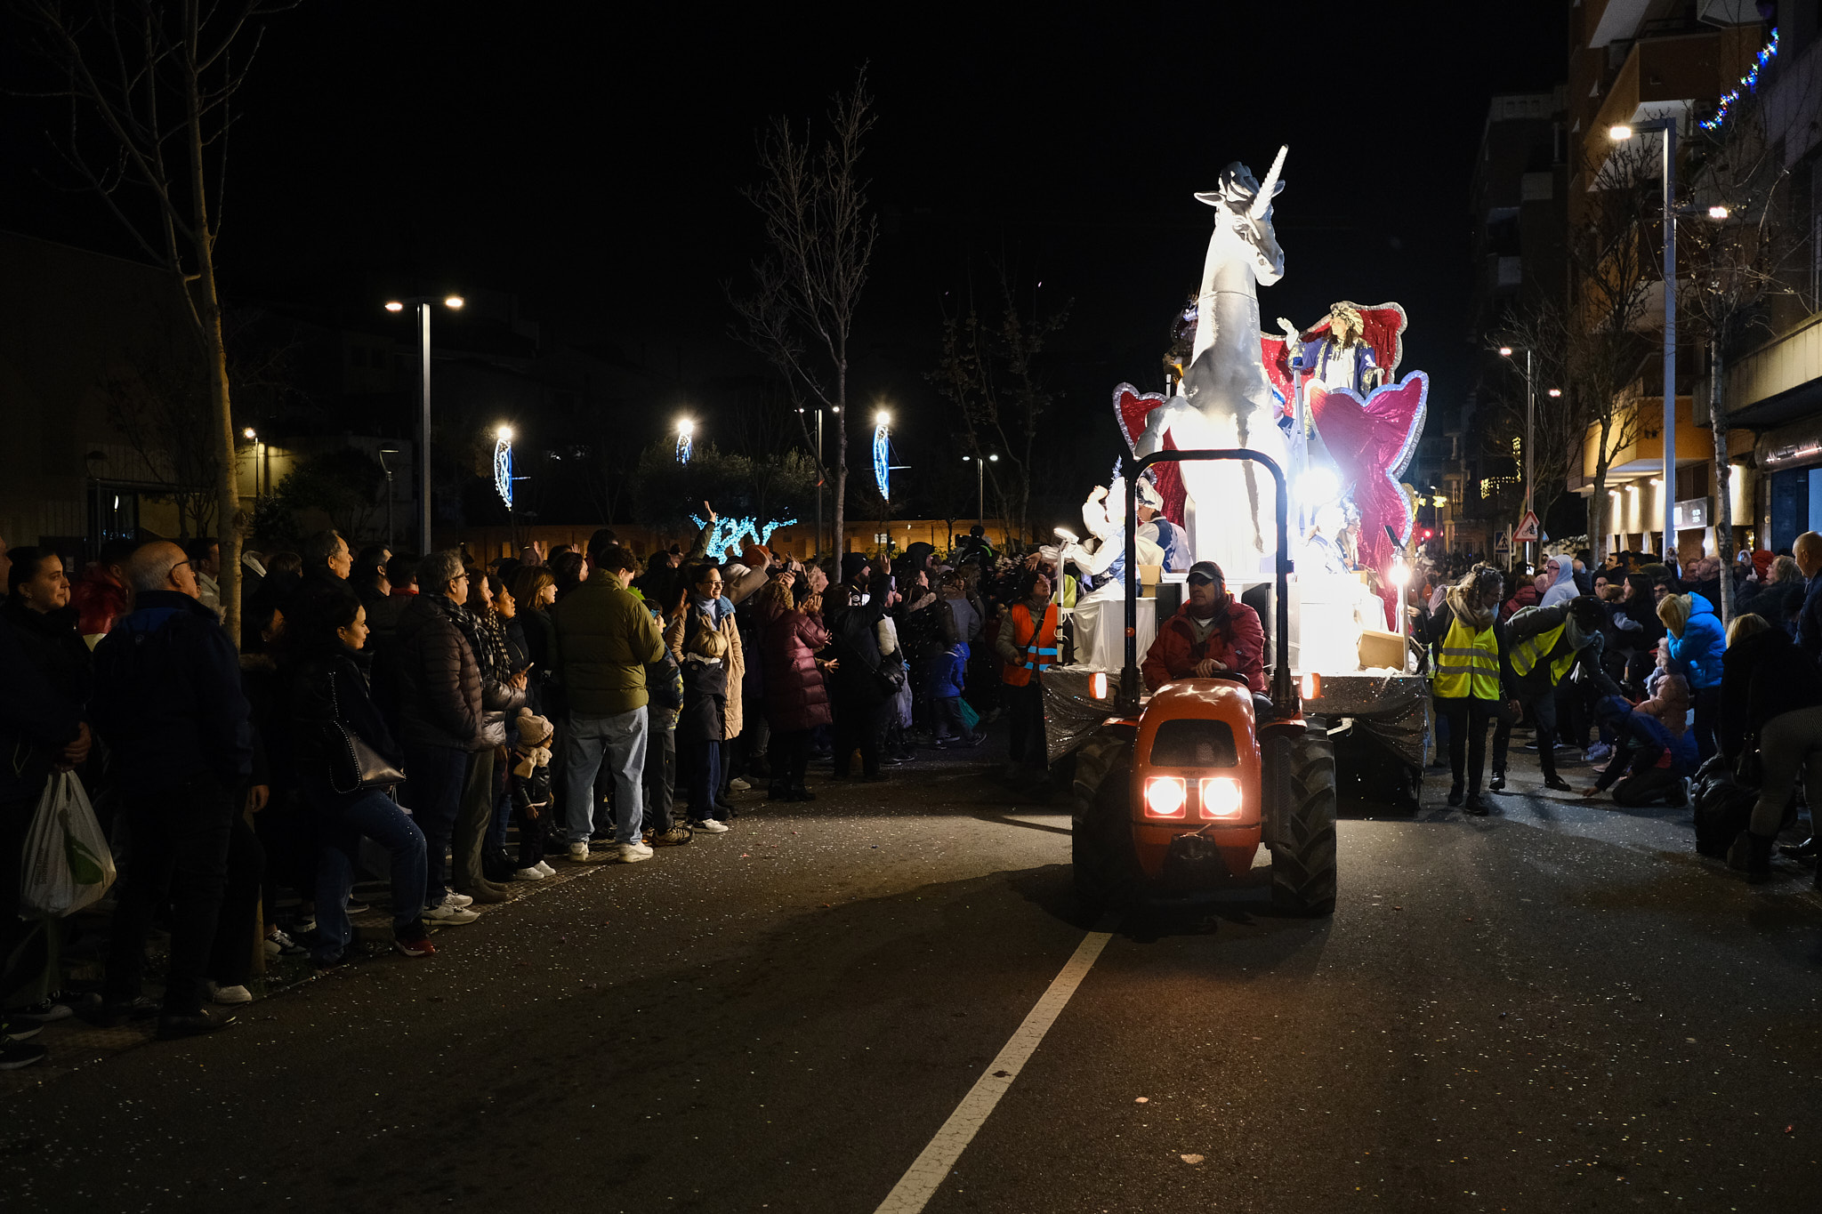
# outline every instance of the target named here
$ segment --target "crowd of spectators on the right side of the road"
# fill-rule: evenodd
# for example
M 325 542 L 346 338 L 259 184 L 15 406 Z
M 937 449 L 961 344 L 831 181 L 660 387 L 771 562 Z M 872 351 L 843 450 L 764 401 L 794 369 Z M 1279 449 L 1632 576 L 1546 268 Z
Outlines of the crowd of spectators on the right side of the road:
M 1689 779 L 1718 772 L 1756 788 L 1729 863 L 1767 875 L 1776 835 L 1798 804 L 1813 810 L 1822 797 L 1822 535 L 1806 531 L 1786 553 L 1742 553 L 1733 568 L 1645 553 L 1596 564 L 1587 551 L 1549 555 L 1534 573 L 1461 564 L 1421 566 L 1410 606 L 1432 668 L 1448 804 L 1485 814 L 1487 724 L 1489 792 L 1505 790 L 1512 730 L 1530 724 L 1543 784 L 1556 792 L 1574 792 L 1556 766 L 1561 750 L 1594 764 L 1581 795 L 1611 790 L 1623 806 L 1687 804 Z M 1813 861 L 1817 841 L 1791 854 Z

